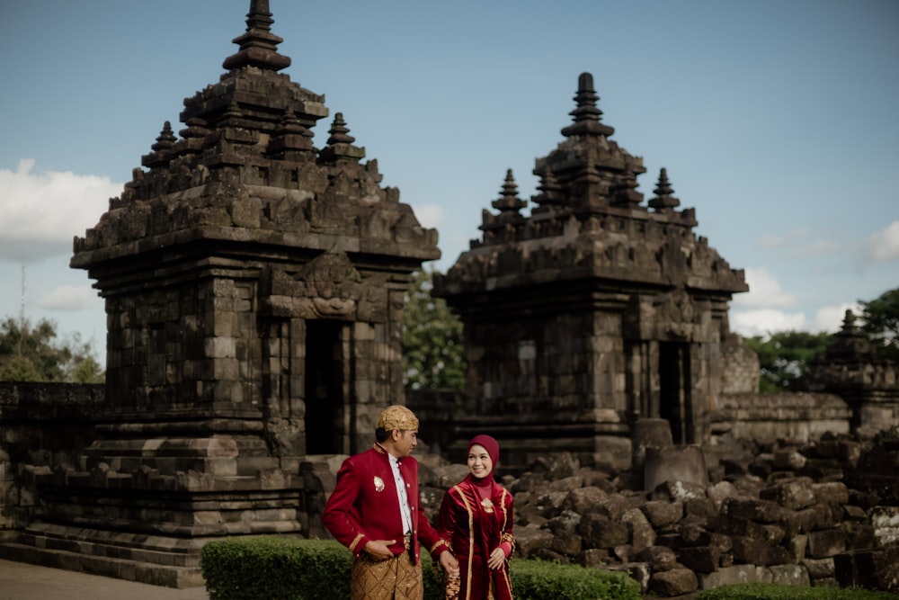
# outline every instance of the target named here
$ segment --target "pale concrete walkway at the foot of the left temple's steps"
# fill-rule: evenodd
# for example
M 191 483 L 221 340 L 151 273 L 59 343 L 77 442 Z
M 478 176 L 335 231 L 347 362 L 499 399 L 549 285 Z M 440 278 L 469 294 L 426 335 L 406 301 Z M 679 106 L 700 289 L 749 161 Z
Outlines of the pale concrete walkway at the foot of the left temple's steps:
M 209 600 L 205 587 L 150 586 L 0 560 L 0 600 Z

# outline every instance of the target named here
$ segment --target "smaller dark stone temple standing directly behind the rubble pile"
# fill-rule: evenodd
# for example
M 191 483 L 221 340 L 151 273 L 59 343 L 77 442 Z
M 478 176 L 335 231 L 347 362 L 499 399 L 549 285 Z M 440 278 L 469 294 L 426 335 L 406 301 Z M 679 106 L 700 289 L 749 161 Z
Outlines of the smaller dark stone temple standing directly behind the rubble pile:
M 507 172 L 481 238 L 434 282 L 465 326 L 458 437 L 496 435 L 511 467 L 556 450 L 628 465 L 643 417 L 701 442 L 738 344 L 727 304 L 749 289 L 743 271 L 695 236 L 665 169 L 644 202 L 643 160 L 610 139 L 598 100 L 583 73 L 565 140 L 536 161 L 530 215 Z

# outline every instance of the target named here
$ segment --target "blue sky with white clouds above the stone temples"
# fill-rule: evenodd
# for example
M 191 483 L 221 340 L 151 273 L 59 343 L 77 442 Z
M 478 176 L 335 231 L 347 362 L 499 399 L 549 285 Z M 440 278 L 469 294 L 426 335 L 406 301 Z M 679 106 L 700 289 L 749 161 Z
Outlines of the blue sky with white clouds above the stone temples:
M 218 81 L 249 0 L 0 0 L 0 318 L 102 355 L 102 300 L 68 267 L 183 99 Z M 512 169 L 564 140 L 592 73 L 611 139 L 667 169 L 750 291 L 743 336 L 839 330 L 899 287 L 899 2 L 271 0 L 282 73 L 325 94 L 426 227 L 441 272 Z M 533 204 L 530 203 L 530 207 Z M 529 209 L 524 210 L 527 214 Z

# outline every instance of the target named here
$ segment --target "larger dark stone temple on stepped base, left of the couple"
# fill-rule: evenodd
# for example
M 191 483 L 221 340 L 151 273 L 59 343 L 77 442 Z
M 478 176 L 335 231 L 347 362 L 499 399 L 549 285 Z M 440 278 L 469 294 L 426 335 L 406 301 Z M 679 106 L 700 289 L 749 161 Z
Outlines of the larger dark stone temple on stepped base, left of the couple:
M 35 471 L 23 560 L 200 585 L 209 539 L 308 534 L 301 465 L 369 447 L 403 402 L 404 295 L 437 234 L 342 113 L 313 146 L 325 96 L 280 73 L 272 23 L 253 0 L 227 73 L 75 238 L 105 300 L 105 403 L 80 464 Z

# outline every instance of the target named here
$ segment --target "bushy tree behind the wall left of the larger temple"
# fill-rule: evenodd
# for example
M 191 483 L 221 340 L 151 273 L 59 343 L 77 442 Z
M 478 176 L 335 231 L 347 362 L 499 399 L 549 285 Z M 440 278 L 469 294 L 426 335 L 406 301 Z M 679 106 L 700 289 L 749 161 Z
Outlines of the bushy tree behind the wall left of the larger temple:
M 31 327 L 27 319 L 7 317 L 0 324 L 0 381 L 99 383 L 103 377 L 91 346 L 77 334 L 58 341 L 52 321 Z

